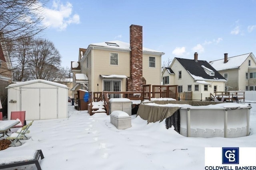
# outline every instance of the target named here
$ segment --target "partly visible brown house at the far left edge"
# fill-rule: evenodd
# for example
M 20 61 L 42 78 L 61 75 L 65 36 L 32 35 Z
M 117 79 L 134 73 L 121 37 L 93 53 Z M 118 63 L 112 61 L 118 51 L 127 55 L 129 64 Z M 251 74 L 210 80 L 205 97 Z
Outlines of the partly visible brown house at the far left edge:
M 3 108 L 0 111 L 7 115 L 6 87 L 12 82 L 12 64 L 4 41 L 4 35 L 0 32 L 0 98 Z

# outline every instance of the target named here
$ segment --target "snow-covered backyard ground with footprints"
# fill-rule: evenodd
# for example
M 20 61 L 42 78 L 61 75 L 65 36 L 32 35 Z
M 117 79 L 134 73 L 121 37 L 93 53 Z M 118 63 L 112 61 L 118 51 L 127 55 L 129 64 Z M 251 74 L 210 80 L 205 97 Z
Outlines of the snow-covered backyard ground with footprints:
M 43 170 L 202 170 L 205 147 L 256 147 L 256 114 L 250 135 L 239 138 L 184 137 L 132 115 L 132 127 L 116 129 L 106 113 L 90 116 L 68 106 L 66 119 L 36 120 L 19 147 L 5 152 L 41 149 Z

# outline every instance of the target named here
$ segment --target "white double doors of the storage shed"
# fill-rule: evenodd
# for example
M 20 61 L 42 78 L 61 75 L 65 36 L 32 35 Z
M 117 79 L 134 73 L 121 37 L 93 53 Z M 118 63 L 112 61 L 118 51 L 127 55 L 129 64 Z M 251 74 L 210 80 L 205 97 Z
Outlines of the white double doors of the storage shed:
M 21 110 L 26 120 L 58 118 L 57 88 L 21 88 Z

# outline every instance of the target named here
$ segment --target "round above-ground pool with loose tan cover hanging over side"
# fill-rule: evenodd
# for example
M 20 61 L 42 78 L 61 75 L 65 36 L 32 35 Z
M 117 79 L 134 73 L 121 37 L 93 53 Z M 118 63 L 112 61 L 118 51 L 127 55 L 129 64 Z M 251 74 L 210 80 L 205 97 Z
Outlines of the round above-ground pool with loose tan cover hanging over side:
M 186 137 L 244 137 L 250 133 L 248 104 L 195 101 L 142 102 L 137 112 L 148 123 L 166 119 L 166 127 Z

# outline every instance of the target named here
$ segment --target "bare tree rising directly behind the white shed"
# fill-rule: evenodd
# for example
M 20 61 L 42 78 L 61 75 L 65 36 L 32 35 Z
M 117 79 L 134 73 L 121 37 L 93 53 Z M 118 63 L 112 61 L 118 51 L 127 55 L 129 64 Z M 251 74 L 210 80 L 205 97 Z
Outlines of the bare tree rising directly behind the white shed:
M 61 56 L 51 41 L 36 39 L 32 43 L 28 72 L 31 79 L 54 81 L 60 73 Z

